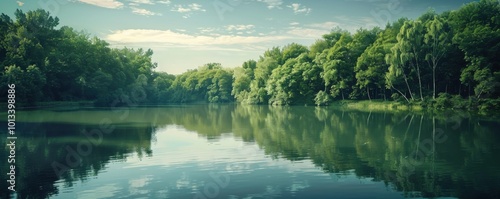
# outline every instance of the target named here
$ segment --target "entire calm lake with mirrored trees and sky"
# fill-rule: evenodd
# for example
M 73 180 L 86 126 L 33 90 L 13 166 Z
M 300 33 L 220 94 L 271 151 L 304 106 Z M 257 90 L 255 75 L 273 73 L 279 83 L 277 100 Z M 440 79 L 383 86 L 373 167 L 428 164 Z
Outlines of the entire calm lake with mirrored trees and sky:
M 1 125 L 0 198 L 500 198 L 500 121 L 469 114 L 17 110 L 16 193 Z

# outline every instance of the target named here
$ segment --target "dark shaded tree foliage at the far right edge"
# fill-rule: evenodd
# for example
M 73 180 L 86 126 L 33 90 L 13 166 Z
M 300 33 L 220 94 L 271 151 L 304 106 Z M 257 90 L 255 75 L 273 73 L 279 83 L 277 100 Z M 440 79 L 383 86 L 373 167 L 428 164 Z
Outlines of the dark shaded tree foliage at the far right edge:
M 467 66 L 460 80 L 477 98 L 498 97 L 494 73 L 500 70 L 500 2 L 481 0 L 451 13 L 453 42 L 465 53 Z M 496 92 L 495 92 L 496 90 Z M 469 93 L 471 95 L 471 93 Z

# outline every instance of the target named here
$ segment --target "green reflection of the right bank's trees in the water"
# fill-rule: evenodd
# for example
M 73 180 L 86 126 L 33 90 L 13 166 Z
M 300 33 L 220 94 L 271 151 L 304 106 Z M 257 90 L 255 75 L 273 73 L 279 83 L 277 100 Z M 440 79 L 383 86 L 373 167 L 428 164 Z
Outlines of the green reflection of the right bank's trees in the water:
M 313 107 L 236 106 L 215 111 L 231 115 L 235 136 L 256 142 L 273 158 L 310 159 L 329 173 L 354 169 L 360 178 L 383 181 L 409 197 L 499 196 L 497 122 L 467 115 Z M 207 123 L 218 125 L 217 121 Z M 445 142 L 435 143 L 438 131 L 447 136 Z M 479 173 L 477 168 L 486 170 Z

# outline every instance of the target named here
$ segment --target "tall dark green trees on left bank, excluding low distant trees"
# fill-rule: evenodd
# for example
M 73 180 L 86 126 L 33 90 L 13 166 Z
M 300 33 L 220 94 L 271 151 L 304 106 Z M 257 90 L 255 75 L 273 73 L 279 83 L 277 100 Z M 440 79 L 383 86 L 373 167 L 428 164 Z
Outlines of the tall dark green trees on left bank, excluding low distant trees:
M 113 49 L 73 28 L 55 29 L 59 19 L 44 10 L 16 10 L 15 17 L 0 17 L 0 65 L 1 92 L 15 84 L 18 102 L 143 96 L 134 91 L 152 92 L 145 86 L 161 76 L 151 50 Z

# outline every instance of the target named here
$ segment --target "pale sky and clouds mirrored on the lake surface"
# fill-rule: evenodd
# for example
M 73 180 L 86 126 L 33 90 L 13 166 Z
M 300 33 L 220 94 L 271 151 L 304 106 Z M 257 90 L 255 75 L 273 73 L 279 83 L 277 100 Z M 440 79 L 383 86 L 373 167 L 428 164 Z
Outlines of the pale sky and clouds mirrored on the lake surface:
M 207 141 L 167 126 L 158 130 L 156 139 L 152 157 L 129 154 L 126 161 L 111 162 L 72 187 L 60 182 L 54 198 L 193 198 L 216 182 L 211 174 L 229 178 L 227 186 L 218 187 L 216 198 L 401 197 L 381 182 L 356 177 L 354 171 L 329 174 L 310 160 L 272 159 L 256 144 L 231 134 Z

